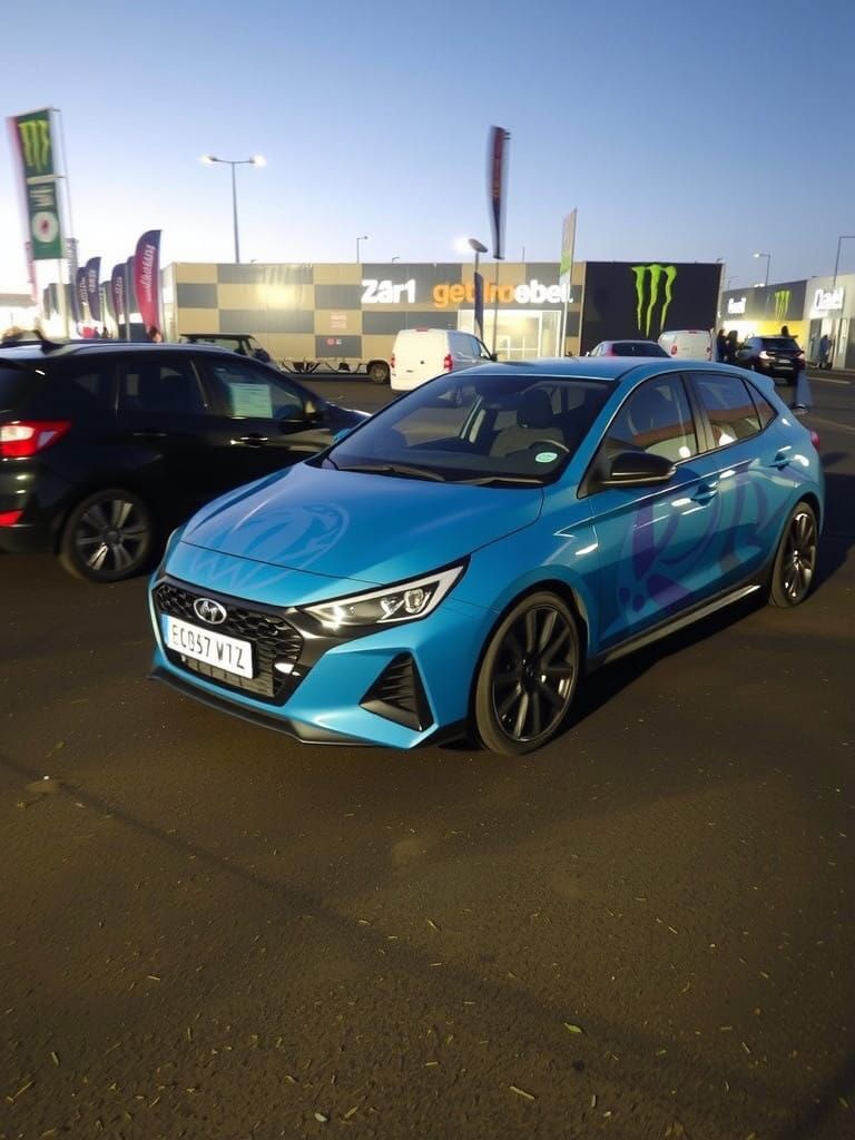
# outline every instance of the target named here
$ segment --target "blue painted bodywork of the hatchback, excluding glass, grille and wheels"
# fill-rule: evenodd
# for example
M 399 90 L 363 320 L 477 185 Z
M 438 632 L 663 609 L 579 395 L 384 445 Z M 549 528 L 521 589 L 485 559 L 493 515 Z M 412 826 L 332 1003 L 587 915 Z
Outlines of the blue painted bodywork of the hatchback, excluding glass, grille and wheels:
M 593 374 L 587 365 L 585 374 Z M 571 591 L 587 652 L 596 656 L 758 575 L 777 547 L 789 510 L 806 494 L 821 522 L 819 459 L 808 433 L 774 391 L 764 394 L 779 417 L 759 437 L 681 463 L 663 486 L 581 494 L 617 408 L 662 365 L 636 364 L 626 376 L 619 364 L 611 369 L 616 383 L 588 439 L 544 489 L 423 482 L 299 464 L 198 512 L 173 536 L 163 568 L 201 592 L 286 608 L 391 585 L 469 555 L 463 578 L 432 613 L 331 649 L 282 708 L 293 722 L 349 739 L 415 747 L 437 727 L 466 719 L 483 645 L 520 594 L 545 583 Z M 608 368 L 596 372 L 609 375 Z M 152 619 L 155 666 L 187 681 L 163 651 L 165 619 L 154 606 Z M 425 685 L 435 722 L 425 731 L 359 707 L 373 679 L 402 652 L 413 656 Z M 223 698 L 220 685 L 201 676 L 194 675 L 192 684 Z M 269 702 L 246 693 L 226 697 L 235 706 L 271 711 Z

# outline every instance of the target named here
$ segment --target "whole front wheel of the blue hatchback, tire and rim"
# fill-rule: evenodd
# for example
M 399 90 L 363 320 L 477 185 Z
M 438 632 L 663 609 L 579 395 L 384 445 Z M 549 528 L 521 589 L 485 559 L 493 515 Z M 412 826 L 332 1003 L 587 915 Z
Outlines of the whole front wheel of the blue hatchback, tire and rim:
M 486 748 L 521 756 L 546 744 L 572 703 L 579 630 L 557 594 L 528 594 L 496 626 L 478 670 L 473 720 Z

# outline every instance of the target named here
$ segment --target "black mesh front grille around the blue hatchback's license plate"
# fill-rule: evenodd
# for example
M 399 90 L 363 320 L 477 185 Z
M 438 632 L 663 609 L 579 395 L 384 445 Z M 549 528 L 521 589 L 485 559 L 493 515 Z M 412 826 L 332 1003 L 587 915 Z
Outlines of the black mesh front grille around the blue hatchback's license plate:
M 193 609 L 193 603 L 199 597 L 215 597 L 225 605 L 227 617 L 221 625 L 206 627 L 205 622 L 199 620 Z M 155 587 L 154 601 L 161 613 L 181 618 L 202 629 L 215 628 L 217 633 L 251 642 L 255 676 L 241 677 L 204 661 L 184 657 L 176 650 L 166 648 L 166 657 L 172 665 L 206 677 L 209 681 L 215 681 L 228 689 L 236 689 L 239 692 L 251 693 L 253 697 L 278 703 L 282 703 L 296 689 L 300 676 L 293 673 L 279 673 L 278 669 L 274 669 L 274 661 L 284 661 L 295 666 L 300 660 L 303 638 L 299 630 L 276 610 L 256 606 L 251 609 L 246 604 L 236 604 L 231 598 L 218 597 L 215 594 L 195 593 L 171 581 L 162 581 Z

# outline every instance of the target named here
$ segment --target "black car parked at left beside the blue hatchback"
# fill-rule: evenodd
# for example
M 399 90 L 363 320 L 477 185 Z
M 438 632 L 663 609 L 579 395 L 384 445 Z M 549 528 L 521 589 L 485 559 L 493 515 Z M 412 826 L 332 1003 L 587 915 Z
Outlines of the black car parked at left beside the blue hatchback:
M 203 344 L 0 352 L 0 552 L 52 551 L 117 581 L 225 490 L 366 418 L 269 365 Z

